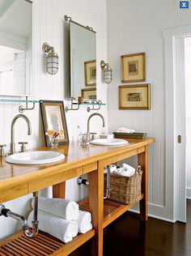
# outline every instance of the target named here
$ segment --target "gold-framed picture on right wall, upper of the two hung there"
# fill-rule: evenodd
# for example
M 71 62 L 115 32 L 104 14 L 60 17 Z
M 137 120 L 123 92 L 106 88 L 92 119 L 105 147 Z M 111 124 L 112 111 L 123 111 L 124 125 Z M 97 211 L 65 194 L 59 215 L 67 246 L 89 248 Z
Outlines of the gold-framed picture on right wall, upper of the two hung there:
M 134 53 L 121 56 L 121 82 L 145 81 L 145 53 Z

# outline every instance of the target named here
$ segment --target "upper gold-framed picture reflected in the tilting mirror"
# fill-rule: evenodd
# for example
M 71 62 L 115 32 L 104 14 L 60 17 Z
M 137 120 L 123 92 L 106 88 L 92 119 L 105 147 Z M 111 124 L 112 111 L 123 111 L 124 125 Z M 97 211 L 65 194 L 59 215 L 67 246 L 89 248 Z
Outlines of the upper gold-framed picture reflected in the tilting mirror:
M 96 60 L 84 62 L 85 86 L 96 86 Z

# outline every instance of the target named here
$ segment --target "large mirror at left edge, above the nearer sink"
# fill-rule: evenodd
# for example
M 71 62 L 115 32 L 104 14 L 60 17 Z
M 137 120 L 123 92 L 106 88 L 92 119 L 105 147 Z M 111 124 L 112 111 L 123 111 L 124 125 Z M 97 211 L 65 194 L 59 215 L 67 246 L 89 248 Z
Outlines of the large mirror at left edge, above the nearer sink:
M 32 1 L 0 1 L 0 96 L 32 95 Z

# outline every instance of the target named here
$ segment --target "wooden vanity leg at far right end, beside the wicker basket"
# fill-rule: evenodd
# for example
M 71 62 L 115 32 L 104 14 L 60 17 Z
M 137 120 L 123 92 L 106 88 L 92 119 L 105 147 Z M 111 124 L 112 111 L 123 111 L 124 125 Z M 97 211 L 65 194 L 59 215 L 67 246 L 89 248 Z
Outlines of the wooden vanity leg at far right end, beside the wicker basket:
M 148 146 L 145 151 L 138 154 L 138 164 L 142 167 L 142 194 L 144 198 L 140 201 L 140 216 L 141 220 L 148 220 Z

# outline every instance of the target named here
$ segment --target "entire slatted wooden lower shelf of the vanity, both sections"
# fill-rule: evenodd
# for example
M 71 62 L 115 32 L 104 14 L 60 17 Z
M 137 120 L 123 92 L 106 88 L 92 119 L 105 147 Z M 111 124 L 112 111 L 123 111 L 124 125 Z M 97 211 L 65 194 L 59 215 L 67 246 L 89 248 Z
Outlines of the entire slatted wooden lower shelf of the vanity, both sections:
M 142 194 L 140 200 L 143 197 Z M 140 200 L 131 205 L 104 200 L 104 228 Z M 88 199 L 80 201 L 79 208 L 82 211 L 90 211 Z M 20 232 L 0 242 L 0 256 L 66 256 L 94 236 L 95 230 L 91 229 L 89 232 L 80 234 L 74 237 L 73 241 L 65 244 L 56 237 L 41 231 L 34 239 L 28 239 L 28 237 L 23 235 L 23 232 Z

